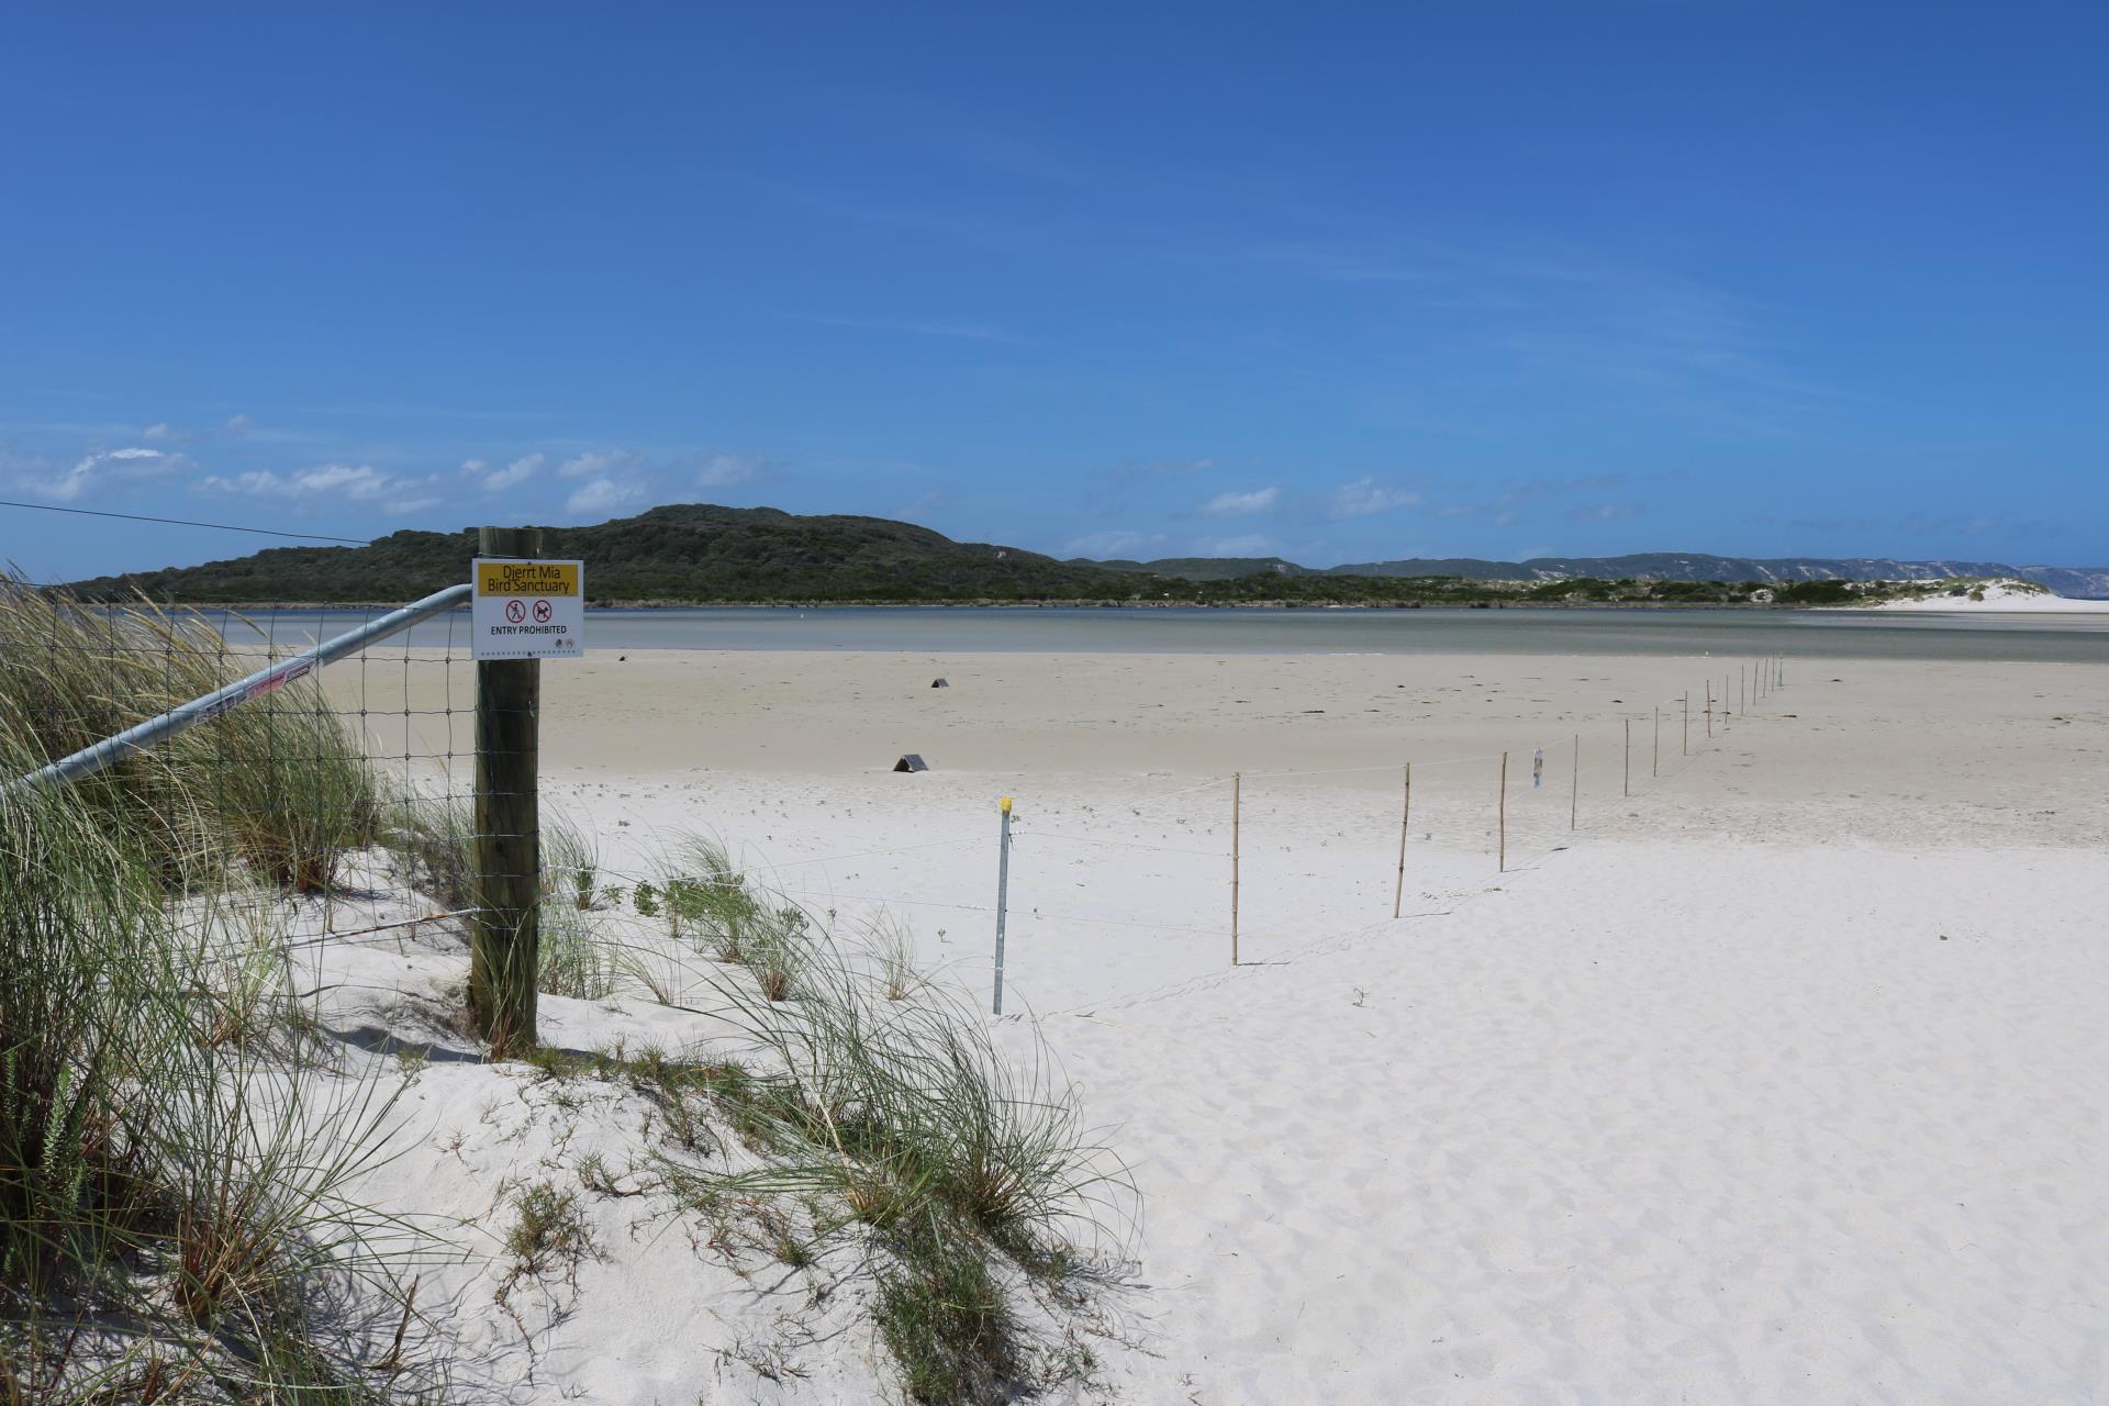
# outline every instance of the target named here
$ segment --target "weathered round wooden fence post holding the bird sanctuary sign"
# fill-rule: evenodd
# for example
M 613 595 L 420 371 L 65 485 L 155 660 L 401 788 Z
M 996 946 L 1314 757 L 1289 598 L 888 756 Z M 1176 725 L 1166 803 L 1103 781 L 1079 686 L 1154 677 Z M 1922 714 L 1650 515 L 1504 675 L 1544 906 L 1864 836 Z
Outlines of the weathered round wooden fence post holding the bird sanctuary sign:
M 540 527 L 485 527 L 483 556 L 542 554 Z M 498 1058 L 536 1048 L 542 959 L 540 831 L 542 660 L 477 662 L 477 917 L 468 938 L 468 1014 Z

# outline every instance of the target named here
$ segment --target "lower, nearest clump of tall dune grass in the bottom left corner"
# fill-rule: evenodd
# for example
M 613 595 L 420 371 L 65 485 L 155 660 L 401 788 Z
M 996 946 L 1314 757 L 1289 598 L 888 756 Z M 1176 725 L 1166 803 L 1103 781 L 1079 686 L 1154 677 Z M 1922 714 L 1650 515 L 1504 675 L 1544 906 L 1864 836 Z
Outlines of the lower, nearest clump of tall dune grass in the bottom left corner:
M 0 1400 L 95 1400 L 146 1362 L 192 1400 L 280 1366 L 382 1400 L 340 1309 L 396 1296 L 401 1227 L 346 1191 L 392 1094 L 287 1033 L 283 959 L 103 820 L 0 793 Z

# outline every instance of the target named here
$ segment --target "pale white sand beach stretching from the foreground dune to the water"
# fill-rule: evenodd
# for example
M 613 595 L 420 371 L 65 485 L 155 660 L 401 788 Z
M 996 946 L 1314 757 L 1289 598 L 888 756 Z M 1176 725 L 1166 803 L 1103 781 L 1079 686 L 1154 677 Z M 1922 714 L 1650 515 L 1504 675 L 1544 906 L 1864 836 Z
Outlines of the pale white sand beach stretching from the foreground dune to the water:
M 993 801 L 1019 799 L 1010 1010 L 1147 1197 L 1130 1345 L 1097 1345 L 1116 1400 L 2109 1398 L 2109 670 L 1793 660 L 1713 744 L 1698 712 L 1691 759 L 1672 710 L 1660 780 L 1645 715 L 1622 799 L 1620 715 L 1719 668 L 593 656 L 546 670 L 544 772 L 614 871 L 717 831 L 844 923 L 890 900 L 976 993 Z M 903 750 L 936 769 L 884 772 Z M 445 1043 L 458 942 L 356 944 L 327 961 L 356 968 L 359 1018 Z M 637 999 L 544 1012 L 574 1048 L 713 1033 Z M 508 1400 L 886 1391 L 854 1305 L 730 1273 L 654 1197 L 588 1197 L 599 1256 L 500 1305 L 498 1178 L 622 1164 L 647 1107 L 475 1062 L 411 1098 L 375 1187 L 453 1218 L 466 1258 L 428 1292 Z M 759 1376 L 757 1345 L 810 1376 Z

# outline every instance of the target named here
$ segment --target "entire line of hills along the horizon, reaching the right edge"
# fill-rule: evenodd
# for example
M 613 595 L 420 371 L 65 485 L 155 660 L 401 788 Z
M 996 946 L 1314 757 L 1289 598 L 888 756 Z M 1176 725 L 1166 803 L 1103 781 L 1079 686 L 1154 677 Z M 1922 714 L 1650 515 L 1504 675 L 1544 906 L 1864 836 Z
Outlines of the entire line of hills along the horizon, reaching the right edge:
M 869 516 L 673 504 L 593 527 L 548 527 L 550 556 L 586 561 L 599 601 L 1152 601 L 1310 605 L 1742 603 L 1765 586 L 2020 578 L 2109 597 L 2109 569 L 1704 554 L 1379 561 L 1312 571 L 1280 556 L 1057 561 Z M 78 582 L 86 597 L 165 601 L 409 601 L 466 580 L 475 531 L 399 531 L 369 546 L 253 556 Z M 1799 599 L 1805 592 L 1780 599 Z M 1814 597 L 1810 597 L 1814 601 Z

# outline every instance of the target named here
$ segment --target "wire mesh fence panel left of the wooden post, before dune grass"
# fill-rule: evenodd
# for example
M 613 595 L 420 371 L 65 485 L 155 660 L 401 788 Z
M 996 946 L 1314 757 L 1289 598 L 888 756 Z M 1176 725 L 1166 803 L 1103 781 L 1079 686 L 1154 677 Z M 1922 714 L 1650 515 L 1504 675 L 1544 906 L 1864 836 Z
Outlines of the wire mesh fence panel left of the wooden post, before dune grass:
M 302 658 L 365 611 L 183 609 L 0 586 L 0 746 L 8 772 L 95 748 L 228 685 L 186 731 L 112 748 L 72 786 L 114 831 L 146 831 L 171 877 L 327 898 L 371 879 L 378 852 L 462 809 L 475 694 L 462 611 L 321 670 Z M 287 666 L 291 668 L 274 668 Z

